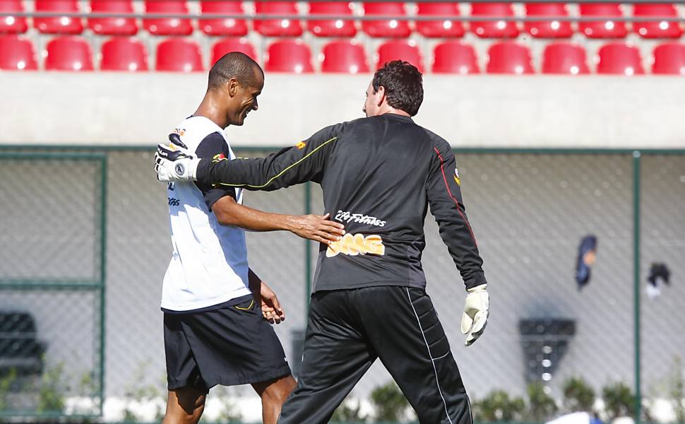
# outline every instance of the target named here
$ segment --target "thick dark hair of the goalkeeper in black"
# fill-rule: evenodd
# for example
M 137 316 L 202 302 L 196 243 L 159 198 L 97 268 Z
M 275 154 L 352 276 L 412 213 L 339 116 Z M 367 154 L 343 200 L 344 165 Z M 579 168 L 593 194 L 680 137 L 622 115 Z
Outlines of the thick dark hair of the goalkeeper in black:
M 388 105 L 414 116 L 424 100 L 423 77 L 416 66 L 407 61 L 393 60 L 374 74 L 374 93 L 386 90 Z

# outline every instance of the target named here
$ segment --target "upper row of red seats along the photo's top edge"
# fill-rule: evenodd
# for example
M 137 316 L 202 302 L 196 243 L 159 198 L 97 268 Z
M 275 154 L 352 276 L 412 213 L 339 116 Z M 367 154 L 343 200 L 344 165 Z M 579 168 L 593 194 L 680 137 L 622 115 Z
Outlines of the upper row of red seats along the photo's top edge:
M 201 1 L 201 13 L 243 15 L 242 1 Z M 475 3 L 471 5 L 471 16 L 506 17 L 514 16 L 511 3 Z M 90 0 L 90 8 L 95 13 L 133 13 L 132 0 Z M 145 18 L 143 27 L 153 35 L 189 35 L 193 25 L 189 18 L 185 0 L 148 0 L 145 1 L 146 13 L 166 13 L 179 18 Z M 293 19 L 254 20 L 254 30 L 267 37 L 298 37 L 302 35 L 302 24 L 297 19 L 295 1 L 255 1 L 256 13 L 283 16 L 296 16 Z M 526 4 L 526 16 L 568 16 L 566 4 L 533 3 Z M 623 15 L 619 4 L 580 4 L 580 16 L 614 17 Z M 0 0 L 0 11 L 11 13 L 23 11 L 21 0 Z M 78 12 L 77 0 L 35 0 L 35 11 L 53 13 Z M 312 1 L 309 15 L 350 16 L 350 20 L 307 20 L 307 29 L 322 37 L 352 37 L 357 33 L 357 24 L 352 16 L 351 4 L 345 1 Z M 365 16 L 406 16 L 403 2 L 364 3 Z M 417 16 L 459 16 L 457 3 L 417 3 Z M 633 9 L 636 17 L 678 18 L 673 4 L 636 4 Z M 81 19 L 68 16 L 54 18 L 34 18 L 34 26 L 42 33 L 80 34 L 83 32 Z M 407 20 L 363 20 L 362 30 L 371 37 L 409 37 L 412 30 L 425 37 L 461 37 L 465 24 L 459 20 L 432 20 L 410 23 Z M 243 36 L 248 33 L 244 19 L 199 19 L 199 28 L 208 35 Z M 515 21 L 484 20 L 472 21 L 470 31 L 479 37 L 513 38 L 520 33 L 520 25 Z M 568 38 L 574 33 L 576 24 L 562 20 L 526 22 L 523 29 L 533 37 Z M 605 20 L 578 23 L 578 31 L 590 38 L 626 37 L 628 26 L 622 21 Z M 134 18 L 88 18 L 88 27 L 97 34 L 133 35 L 138 32 Z M 415 28 L 413 28 L 415 27 Z M 25 18 L 7 16 L 0 20 L 0 33 L 24 33 L 28 29 Z M 679 38 L 683 34 L 678 22 L 636 22 L 632 30 L 645 38 Z

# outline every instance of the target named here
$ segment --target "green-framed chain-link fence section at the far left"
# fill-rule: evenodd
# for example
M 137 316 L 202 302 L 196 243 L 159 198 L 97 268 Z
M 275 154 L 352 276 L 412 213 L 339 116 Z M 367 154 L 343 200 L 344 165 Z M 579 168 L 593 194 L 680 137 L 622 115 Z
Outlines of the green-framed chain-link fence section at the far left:
M 0 152 L 0 410 L 102 410 L 105 155 Z

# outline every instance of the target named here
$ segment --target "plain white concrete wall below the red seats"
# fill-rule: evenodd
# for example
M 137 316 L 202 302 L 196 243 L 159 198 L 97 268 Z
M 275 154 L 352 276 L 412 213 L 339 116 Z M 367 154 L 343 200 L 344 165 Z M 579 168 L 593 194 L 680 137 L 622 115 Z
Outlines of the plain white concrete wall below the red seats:
M 370 75 L 268 74 L 235 146 L 287 146 L 362 115 Z M 0 73 L 0 144 L 154 145 L 200 102 L 206 74 Z M 425 77 L 416 121 L 453 146 L 685 146 L 685 78 Z

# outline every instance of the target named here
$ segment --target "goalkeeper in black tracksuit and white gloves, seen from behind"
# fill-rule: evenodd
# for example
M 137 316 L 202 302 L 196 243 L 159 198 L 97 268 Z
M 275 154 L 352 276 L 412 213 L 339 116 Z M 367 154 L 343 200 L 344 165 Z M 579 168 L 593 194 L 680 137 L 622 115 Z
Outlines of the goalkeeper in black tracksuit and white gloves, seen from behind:
M 369 84 L 366 118 L 328 126 L 266 158 L 157 158 L 160 179 L 266 191 L 318 182 L 325 211 L 345 225 L 341 240 L 320 245 L 302 371 L 280 424 L 327 423 L 376 358 L 420 423 L 472 422 L 425 292 L 421 255 L 429 207 L 469 292 L 462 322 L 467 346 L 487 322 L 486 280 L 450 145 L 411 119 L 422 98 L 421 74 L 393 61 Z M 160 145 L 167 159 L 174 156 L 169 146 Z

